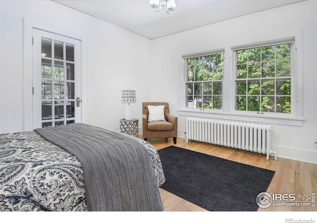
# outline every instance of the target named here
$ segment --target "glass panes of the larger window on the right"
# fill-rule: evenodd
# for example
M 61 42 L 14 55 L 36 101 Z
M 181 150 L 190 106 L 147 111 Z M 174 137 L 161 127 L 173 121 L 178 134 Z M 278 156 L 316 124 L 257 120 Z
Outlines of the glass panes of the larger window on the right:
M 282 43 L 234 51 L 236 111 L 291 113 L 292 48 Z

